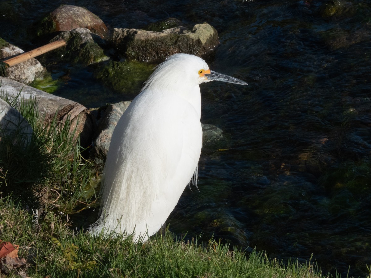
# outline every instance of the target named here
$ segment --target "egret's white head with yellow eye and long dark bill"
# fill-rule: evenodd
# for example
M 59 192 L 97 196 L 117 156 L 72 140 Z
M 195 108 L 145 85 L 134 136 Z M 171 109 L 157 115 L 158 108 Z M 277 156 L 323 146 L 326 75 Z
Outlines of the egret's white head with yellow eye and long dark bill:
M 178 53 L 171 55 L 155 68 L 154 73 L 148 78 L 145 88 L 154 85 L 157 88 L 185 89 L 213 80 L 247 85 L 240 79 L 210 70 L 207 63 L 200 57 Z

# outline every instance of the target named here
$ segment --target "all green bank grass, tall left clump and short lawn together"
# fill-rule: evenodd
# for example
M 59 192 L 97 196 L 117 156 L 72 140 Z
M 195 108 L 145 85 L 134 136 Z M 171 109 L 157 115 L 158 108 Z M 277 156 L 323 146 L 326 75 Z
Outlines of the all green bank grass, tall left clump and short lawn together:
M 18 255 L 27 260 L 8 277 L 328 277 L 313 262 L 283 264 L 212 239 L 185 242 L 167 232 L 134 244 L 130 237 L 73 231 L 65 215 L 93 202 L 93 166 L 68 125 L 55 119 L 43 127 L 35 101 L 12 105 L 29 121 L 33 139 L 26 148 L 1 140 L 0 239 L 20 245 Z M 35 221 L 32 211 L 40 207 Z

